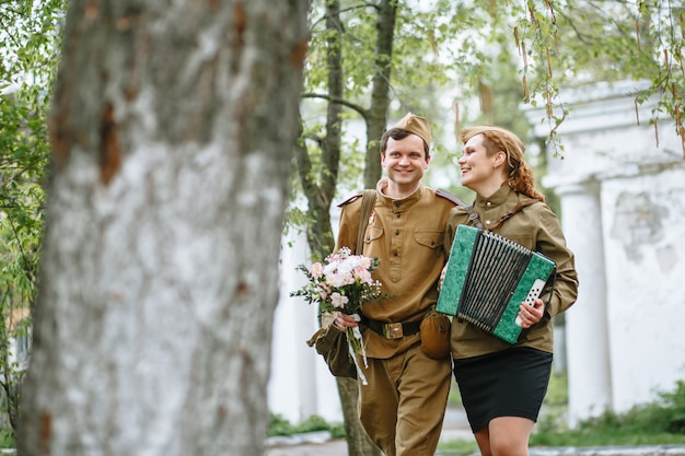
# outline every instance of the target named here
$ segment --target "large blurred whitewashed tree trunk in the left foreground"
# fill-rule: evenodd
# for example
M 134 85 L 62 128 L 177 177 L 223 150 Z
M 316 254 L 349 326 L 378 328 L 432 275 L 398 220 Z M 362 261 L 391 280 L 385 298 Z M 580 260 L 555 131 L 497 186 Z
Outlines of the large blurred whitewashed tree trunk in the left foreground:
M 305 0 L 71 0 L 18 448 L 260 456 Z

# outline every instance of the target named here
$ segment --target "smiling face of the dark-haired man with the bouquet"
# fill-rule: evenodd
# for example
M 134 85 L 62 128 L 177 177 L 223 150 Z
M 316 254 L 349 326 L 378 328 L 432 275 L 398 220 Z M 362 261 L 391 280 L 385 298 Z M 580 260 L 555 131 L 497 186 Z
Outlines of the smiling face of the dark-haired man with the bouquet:
M 403 198 L 416 190 L 429 162 L 423 140 L 418 136 L 409 135 L 399 140 L 388 138 L 387 148 L 381 154 L 381 164 L 390 180 L 388 196 Z

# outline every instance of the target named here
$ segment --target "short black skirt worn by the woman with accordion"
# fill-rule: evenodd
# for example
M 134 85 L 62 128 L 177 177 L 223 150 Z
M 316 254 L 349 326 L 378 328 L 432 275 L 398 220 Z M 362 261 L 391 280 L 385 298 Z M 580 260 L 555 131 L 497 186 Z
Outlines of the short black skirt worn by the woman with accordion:
M 498 417 L 537 421 L 552 358 L 552 353 L 521 347 L 454 360 L 454 377 L 472 431 L 480 431 Z

